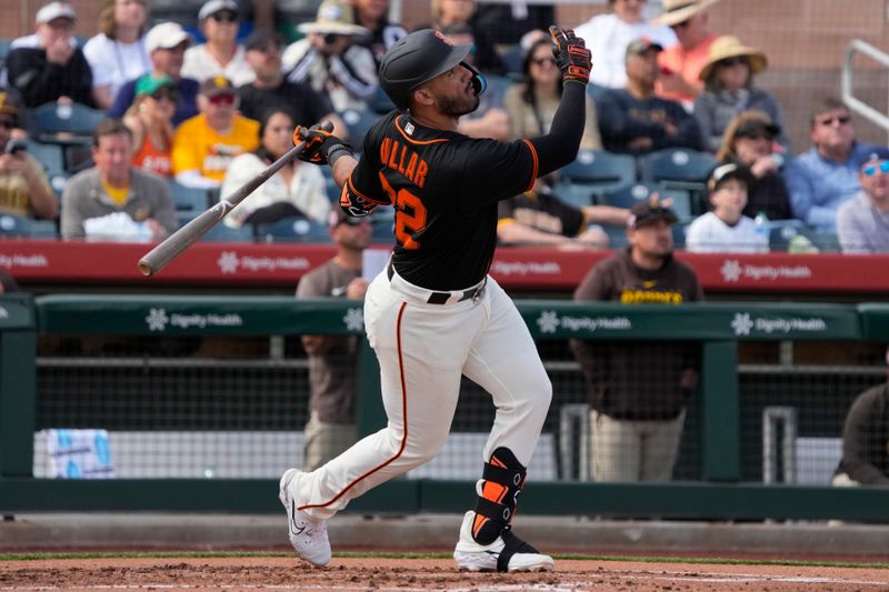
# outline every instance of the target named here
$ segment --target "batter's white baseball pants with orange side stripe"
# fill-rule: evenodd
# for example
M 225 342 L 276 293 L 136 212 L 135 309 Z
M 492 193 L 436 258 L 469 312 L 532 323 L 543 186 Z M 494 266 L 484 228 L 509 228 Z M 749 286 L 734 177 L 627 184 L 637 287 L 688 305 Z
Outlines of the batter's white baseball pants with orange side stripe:
M 380 362 L 388 424 L 298 482 L 300 509 L 328 519 L 349 500 L 432 460 L 450 431 L 466 374 L 497 408 L 483 451 L 499 446 L 528 465 L 552 398 L 531 334 L 490 277 L 478 299 L 429 304 L 431 291 L 380 273 L 364 300 L 364 325 Z M 479 478 L 481 475 L 479 474 Z

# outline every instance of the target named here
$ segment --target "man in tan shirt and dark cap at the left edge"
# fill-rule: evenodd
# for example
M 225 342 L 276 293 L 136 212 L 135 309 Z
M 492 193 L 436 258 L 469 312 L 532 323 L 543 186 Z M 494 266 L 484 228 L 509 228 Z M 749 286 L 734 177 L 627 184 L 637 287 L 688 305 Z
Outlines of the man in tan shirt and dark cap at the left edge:
M 43 167 L 12 138 L 19 127 L 20 106 L 0 92 L 0 213 L 27 218 L 54 219 L 59 202 L 52 193 Z

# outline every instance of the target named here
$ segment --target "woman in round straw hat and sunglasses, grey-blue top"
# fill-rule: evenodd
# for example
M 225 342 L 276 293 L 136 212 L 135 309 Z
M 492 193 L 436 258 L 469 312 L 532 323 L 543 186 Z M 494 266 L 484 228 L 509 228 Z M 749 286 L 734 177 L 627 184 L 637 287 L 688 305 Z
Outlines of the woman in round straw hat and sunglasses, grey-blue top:
M 765 70 L 767 63 L 765 53 L 737 37 L 723 36 L 710 46 L 710 57 L 700 73 L 703 92 L 695 99 L 695 118 L 710 152 L 719 150 L 726 127 L 742 111 L 765 111 L 772 123 L 786 129 L 778 100 L 753 86 L 753 74 Z M 786 150 L 790 147 L 783 133 L 778 142 Z

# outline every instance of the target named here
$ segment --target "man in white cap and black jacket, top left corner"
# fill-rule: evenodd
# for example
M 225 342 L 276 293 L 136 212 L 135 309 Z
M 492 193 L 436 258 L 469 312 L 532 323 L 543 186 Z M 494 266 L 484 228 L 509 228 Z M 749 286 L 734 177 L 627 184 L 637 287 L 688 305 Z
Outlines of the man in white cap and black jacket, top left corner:
M 24 107 L 58 100 L 96 106 L 92 71 L 73 42 L 77 13 L 67 2 L 50 2 L 37 11 L 37 47 L 17 47 L 7 59 L 10 86 Z

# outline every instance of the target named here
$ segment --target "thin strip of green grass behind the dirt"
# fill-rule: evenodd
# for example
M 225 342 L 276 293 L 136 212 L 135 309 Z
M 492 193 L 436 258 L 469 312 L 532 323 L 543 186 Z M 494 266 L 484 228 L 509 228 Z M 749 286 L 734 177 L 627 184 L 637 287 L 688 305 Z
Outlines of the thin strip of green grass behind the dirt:
M 0 561 L 37 561 L 60 559 L 212 559 L 212 558 L 290 558 L 291 552 L 276 551 L 146 551 L 146 552 L 88 552 L 88 553 L 0 553 Z M 450 553 L 380 553 L 342 552 L 337 558 L 381 558 L 381 559 L 450 559 Z M 578 553 L 557 553 L 555 559 L 579 561 L 633 561 L 639 563 L 691 563 L 723 565 L 789 565 L 819 568 L 867 568 L 889 570 L 889 562 L 878 561 L 808 561 L 795 559 L 726 559 L 686 556 L 630 556 L 630 555 L 585 555 Z

